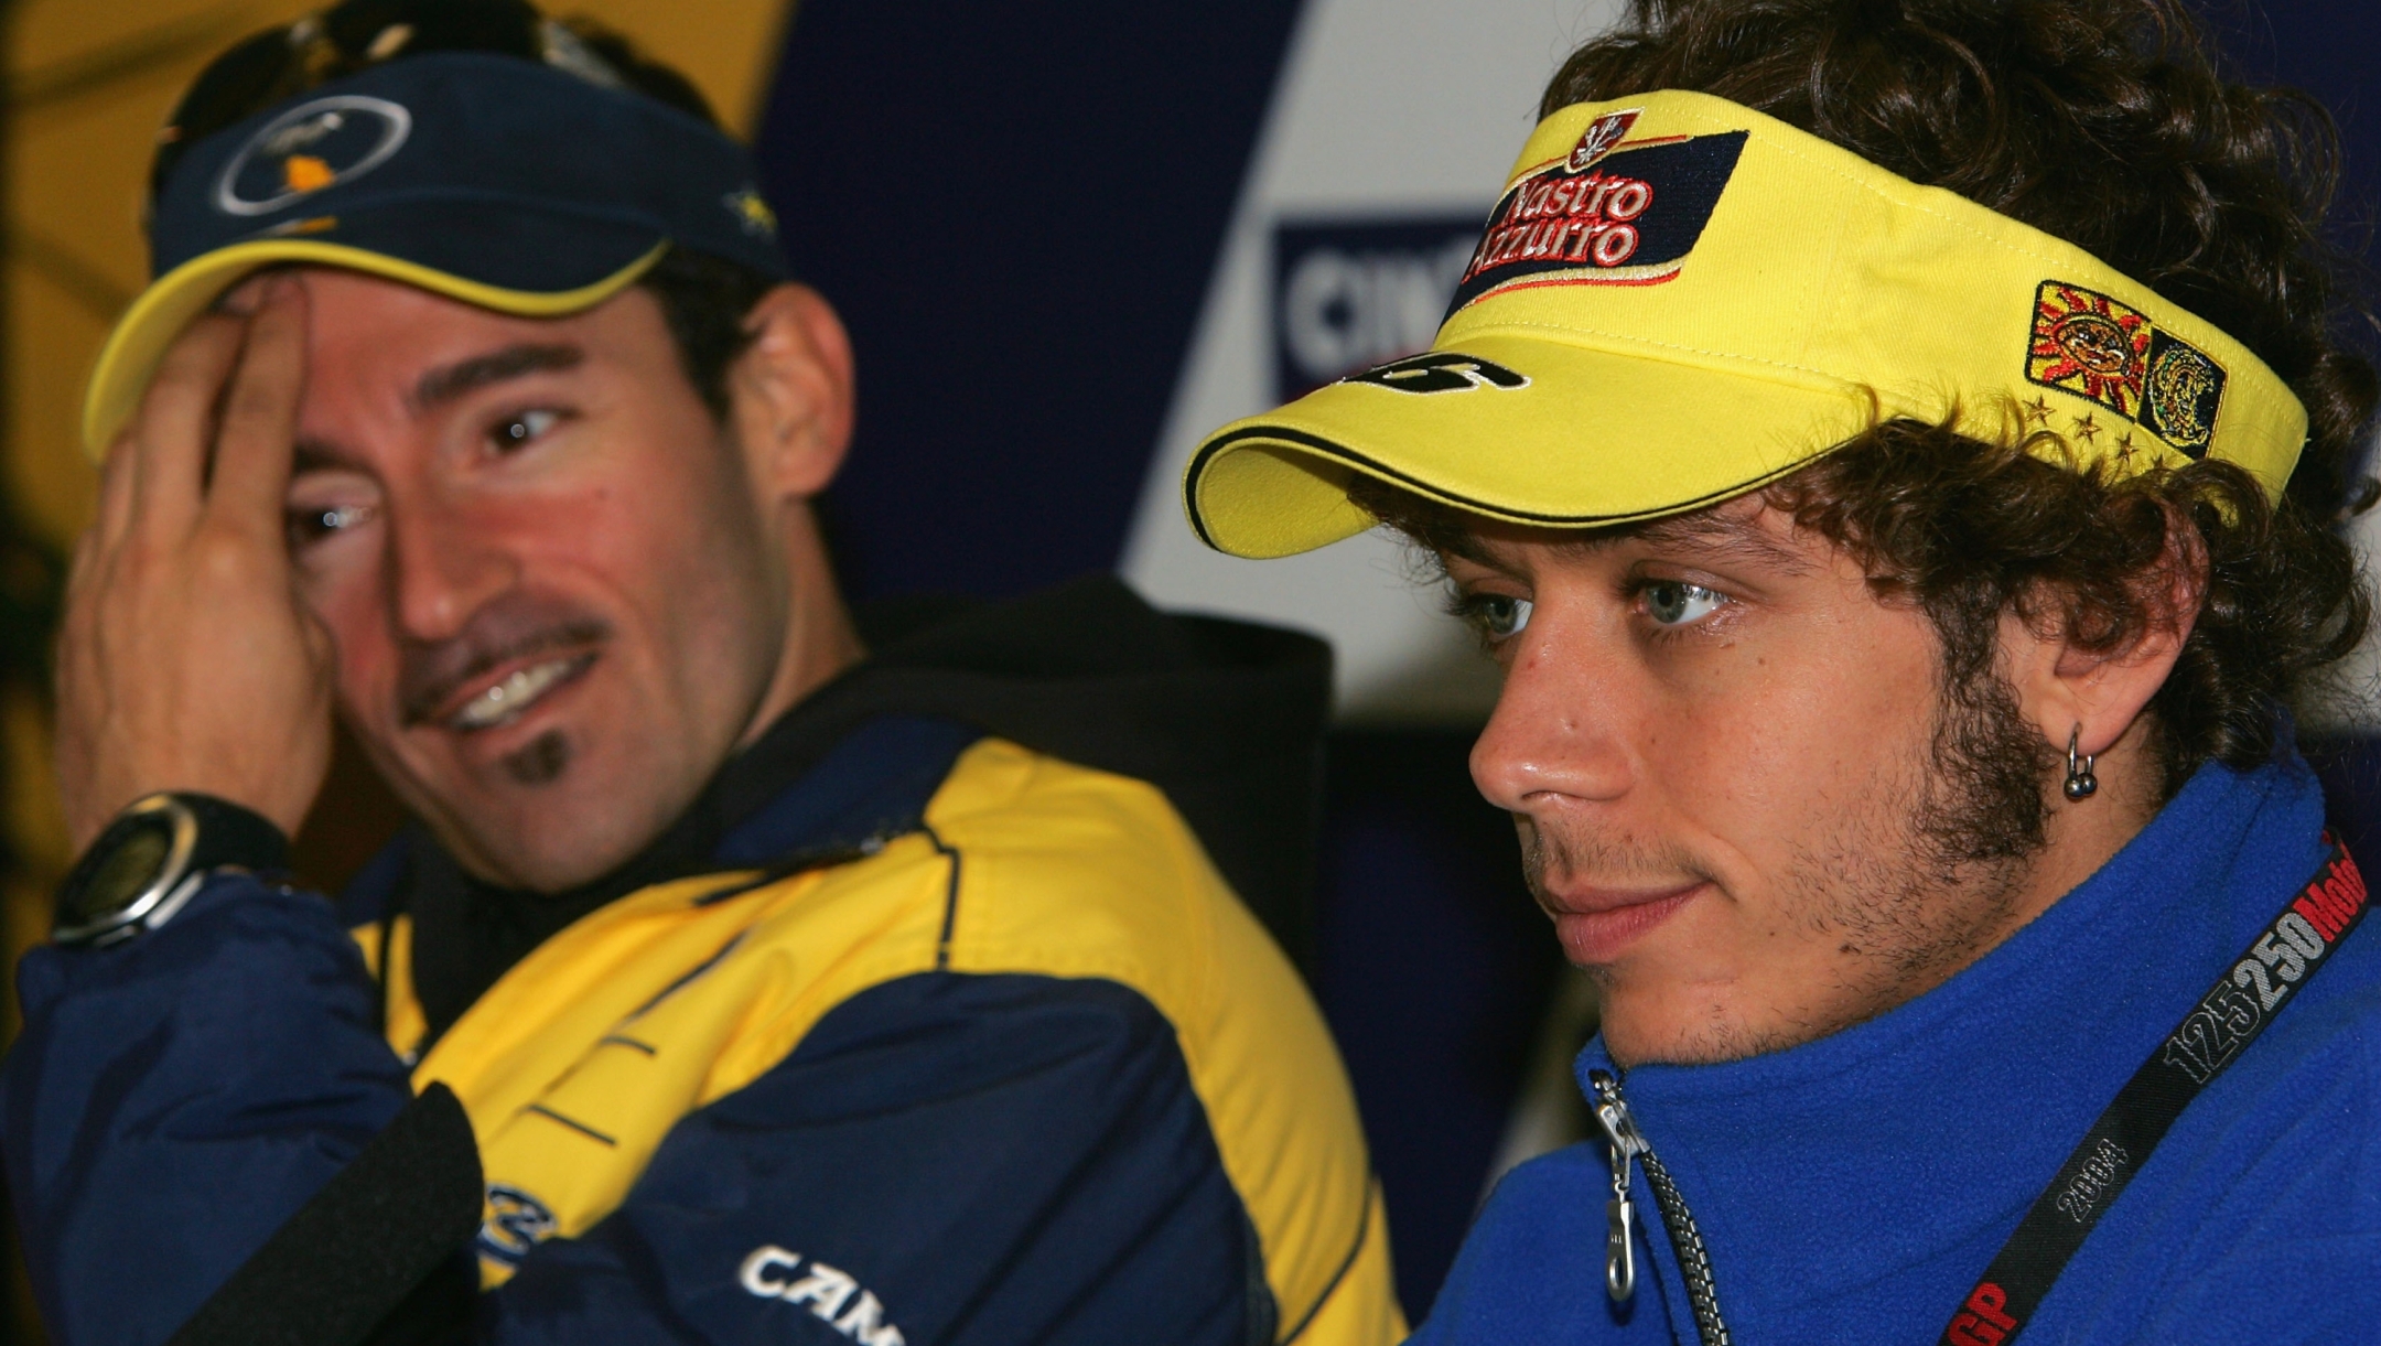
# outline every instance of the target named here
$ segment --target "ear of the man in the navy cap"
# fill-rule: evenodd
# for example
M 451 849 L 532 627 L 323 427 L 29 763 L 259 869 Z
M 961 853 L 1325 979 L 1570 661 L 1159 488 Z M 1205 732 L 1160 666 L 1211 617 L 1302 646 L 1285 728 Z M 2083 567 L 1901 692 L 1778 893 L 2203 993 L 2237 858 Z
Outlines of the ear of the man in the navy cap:
M 755 488 L 807 500 L 852 443 L 852 338 L 810 286 L 776 286 L 745 314 L 752 345 L 729 372 L 729 417 Z

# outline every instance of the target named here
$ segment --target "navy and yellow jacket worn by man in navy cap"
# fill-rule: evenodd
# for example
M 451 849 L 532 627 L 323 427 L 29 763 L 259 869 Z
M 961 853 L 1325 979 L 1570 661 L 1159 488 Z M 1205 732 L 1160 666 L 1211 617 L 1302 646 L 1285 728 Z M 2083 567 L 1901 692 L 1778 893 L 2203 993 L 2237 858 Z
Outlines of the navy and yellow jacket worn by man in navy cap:
M 1152 641 L 1264 636 L 1112 586 L 1052 615 L 1067 677 L 1014 617 L 945 624 L 588 893 L 486 891 L 407 839 L 343 917 L 224 874 L 129 946 L 36 951 L 0 1144 L 52 1334 L 162 1341 L 440 1082 L 481 1294 L 412 1339 L 1395 1341 L 1338 1058 L 1217 862 L 1288 891 L 1279 846 L 1226 839 L 1281 800 L 1224 739 L 1298 748 L 1214 734 L 1267 722 L 1231 677 L 1207 736 L 1095 741 L 1219 653 Z M 1164 789 L 1081 765 L 1136 750 Z

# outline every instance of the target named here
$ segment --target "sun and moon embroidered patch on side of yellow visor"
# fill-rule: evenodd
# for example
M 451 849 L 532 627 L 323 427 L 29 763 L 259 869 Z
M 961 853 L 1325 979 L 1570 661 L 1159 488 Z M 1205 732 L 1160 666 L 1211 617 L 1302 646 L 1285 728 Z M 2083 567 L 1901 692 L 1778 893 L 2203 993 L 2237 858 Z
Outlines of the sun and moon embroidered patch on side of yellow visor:
M 2224 403 L 2224 369 L 2202 350 L 2064 281 L 2043 281 L 2033 295 L 2026 381 L 2091 398 L 2191 457 L 2207 453 Z

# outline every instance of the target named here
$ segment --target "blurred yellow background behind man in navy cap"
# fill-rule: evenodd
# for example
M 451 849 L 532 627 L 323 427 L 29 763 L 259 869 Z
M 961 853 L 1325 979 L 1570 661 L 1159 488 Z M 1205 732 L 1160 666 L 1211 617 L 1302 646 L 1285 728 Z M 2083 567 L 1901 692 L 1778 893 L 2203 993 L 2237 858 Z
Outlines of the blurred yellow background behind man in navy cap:
M 157 126 L 214 52 L 319 7 L 319 0 L 0 5 L 12 91 L 0 217 L 7 229 L 0 445 L 17 522 L 57 553 L 71 550 L 98 484 L 76 450 L 83 376 L 117 312 L 148 281 L 140 198 Z M 750 133 L 788 7 L 783 0 L 576 0 L 550 12 L 586 14 L 636 38 Z M 19 858 L 0 877 L 0 934 L 14 967 L 48 931 L 50 889 L 71 860 L 38 686 L 0 686 L 0 827 Z M 17 1017 L 14 993 L 5 1001 L 0 1041 L 14 1034 Z M 14 1327 L 19 1339 L 36 1339 L 29 1320 Z

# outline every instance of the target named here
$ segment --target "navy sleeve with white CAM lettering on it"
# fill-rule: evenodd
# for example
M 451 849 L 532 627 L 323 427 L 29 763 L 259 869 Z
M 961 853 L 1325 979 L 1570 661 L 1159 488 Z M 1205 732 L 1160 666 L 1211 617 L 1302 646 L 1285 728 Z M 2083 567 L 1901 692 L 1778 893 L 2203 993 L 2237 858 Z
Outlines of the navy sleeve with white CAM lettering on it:
M 479 1336 L 1264 1344 L 1274 1303 L 1174 1027 L 1114 982 L 917 974 L 688 1115 Z

